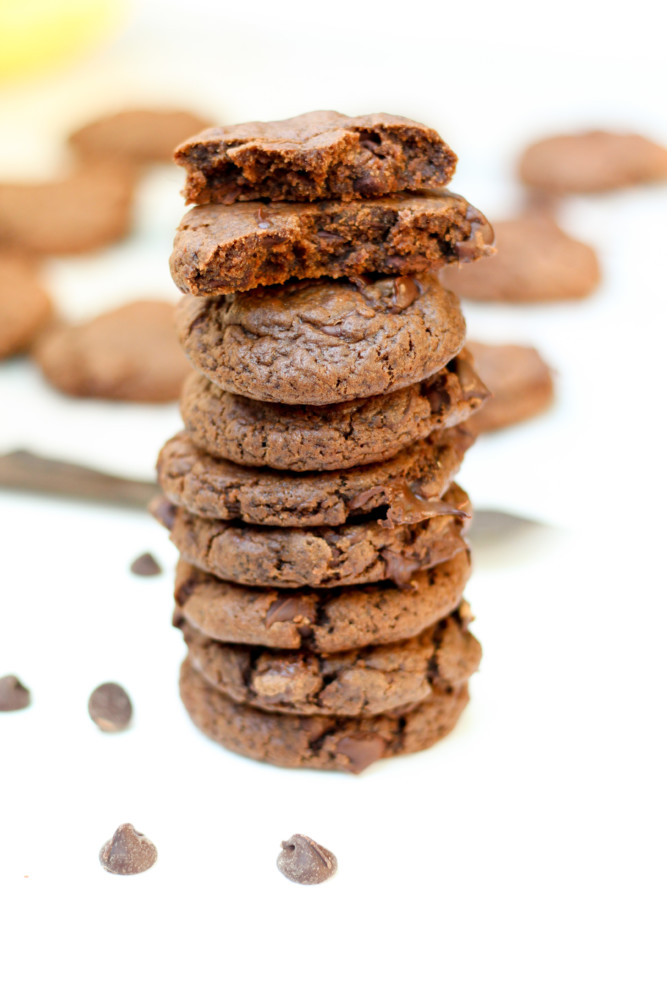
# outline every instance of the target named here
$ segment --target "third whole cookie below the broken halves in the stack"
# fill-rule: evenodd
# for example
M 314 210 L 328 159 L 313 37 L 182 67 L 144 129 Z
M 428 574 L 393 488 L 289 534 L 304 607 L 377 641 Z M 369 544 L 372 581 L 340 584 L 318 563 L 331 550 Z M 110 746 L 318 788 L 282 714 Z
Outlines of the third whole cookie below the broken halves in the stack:
M 455 427 L 387 462 L 299 475 L 213 458 L 181 433 L 160 452 L 158 479 L 172 503 L 202 517 L 282 527 L 335 525 L 397 500 L 400 507 L 411 496 L 426 501 L 442 496 L 473 440 L 470 431 Z

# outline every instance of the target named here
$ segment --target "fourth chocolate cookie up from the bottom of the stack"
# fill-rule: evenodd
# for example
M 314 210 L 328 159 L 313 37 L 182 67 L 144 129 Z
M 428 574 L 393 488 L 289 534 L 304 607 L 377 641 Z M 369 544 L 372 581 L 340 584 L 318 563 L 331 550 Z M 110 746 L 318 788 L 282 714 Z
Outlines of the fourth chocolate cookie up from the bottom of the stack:
M 197 517 L 181 507 L 170 538 L 189 563 L 247 587 L 339 587 L 380 580 L 406 586 L 418 570 L 466 547 L 462 522 L 470 516 L 470 500 L 459 486 L 421 508 L 413 516 L 423 512 L 427 517 L 416 523 L 375 518 L 340 527 L 270 528 Z

